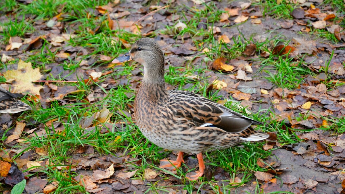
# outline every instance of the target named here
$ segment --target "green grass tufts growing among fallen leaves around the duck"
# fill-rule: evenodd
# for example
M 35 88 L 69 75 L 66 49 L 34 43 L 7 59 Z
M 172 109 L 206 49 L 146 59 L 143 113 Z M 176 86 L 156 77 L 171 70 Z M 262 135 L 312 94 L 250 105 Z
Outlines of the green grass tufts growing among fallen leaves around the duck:
M 76 29 L 77 36 L 71 38 L 67 45 L 72 47 L 82 47 L 88 49 L 90 52 L 86 56 L 82 56 L 81 59 L 89 60 L 94 58 L 95 61 L 90 65 L 93 67 L 104 67 L 108 62 L 98 60 L 99 54 L 106 56 L 116 57 L 121 53 L 126 52 L 126 49 L 118 38 L 125 39 L 126 41 L 133 43 L 135 40 L 141 38 L 140 35 L 127 32 L 124 30 L 111 30 L 107 24 L 103 21 L 107 20 L 107 16 L 95 16 L 91 10 L 95 10 L 96 6 L 105 5 L 109 0 L 43 0 L 33 1 L 30 4 L 21 4 L 16 0 L 5 0 L 3 4 L 0 4 L 3 12 L 10 12 L 8 22 L 4 22 L 3 32 L 1 32 L 1 40 L 4 43 L 8 43 L 10 37 L 19 36 L 25 37 L 25 34 L 34 32 L 33 22 L 43 20 L 49 21 L 59 13 L 65 14 L 62 21 L 75 24 L 78 26 Z M 337 1 L 338 2 L 338 1 Z M 263 15 L 272 16 L 276 19 L 279 18 L 291 18 L 289 12 L 298 7 L 297 4 L 290 4 L 286 1 L 280 4 L 277 1 L 266 1 L 264 3 L 258 3 L 262 5 Z M 335 7 L 339 6 L 339 3 L 334 4 Z M 166 26 L 165 30 L 156 30 L 152 33 L 152 37 L 156 33 L 164 33 L 171 35 L 174 39 L 189 35 L 193 40 L 194 45 L 198 49 L 199 56 L 205 55 L 204 61 L 198 65 L 193 64 L 193 59 L 186 59 L 184 67 L 170 66 L 166 70 L 165 80 L 171 85 L 175 85 L 177 89 L 183 89 L 187 84 L 189 91 L 194 91 L 198 94 L 207 96 L 212 100 L 219 100 L 221 96 L 218 95 L 218 91 L 208 91 L 209 77 L 205 76 L 207 69 L 206 63 L 213 61 L 218 57 L 226 57 L 227 59 L 234 59 L 241 55 L 247 44 L 254 42 L 253 39 L 245 39 L 243 34 L 234 36 L 231 44 L 219 42 L 212 31 L 215 23 L 219 21 L 219 17 L 222 13 L 217 9 L 214 2 L 205 4 L 205 9 L 194 9 L 189 7 L 176 7 L 171 8 L 171 12 L 178 12 L 179 9 L 185 9 L 180 21 L 187 25 L 187 28 L 183 30 L 176 30 L 173 26 Z M 12 12 L 12 10 L 15 10 Z M 90 14 L 89 14 L 90 13 Z M 189 16 L 191 18 L 189 19 Z M 204 20 L 206 18 L 206 21 Z M 103 23 L 102 23 L 103 22 Z M 205 25 L 206 29 L 199 28 L 198 25 Z M 97 33 L 91 33 L 90 29 L 95 29 L 100 26 Z M 313 33 L 323 34 L 324 38 L 334 40 L 334 36 L 322 30 L 315 30 Z M 334 40 L 336 41 L 336 40 Z M 265 42 L 254 42 L 258 51 L 269 51 L 274 45 L 288 44 L 284 41 L 284 37 L 277 36 Z M 60 52 L 62 48 L 58 48 L 56 51 L 50 51 L 50 43 L 47 40 L 43 40 L 43 45 L 40 50 L 32 51 L 26 61 L 30 61 L 34 68 L 40 68 L 43 73 L 49 73 L 51 70 L 47 68 L 47 65 L 55 62 L 55 54 Z M 207 48 L 209 51 L 203 53 L 203 49 Z M 79 60 L 79 59 L 78 59 Z M 61 62 L 64 70 L 75 71 L 80 64 L 80 60 L 68 59 Z M 266 73 L 266 79 L 276 87 L 296 89 L 298 85 L 304 83 L 304 78 L 307 75 L 315 75 L 314 72 L 307 69 L 303 62 L 295 61 L 294 59 L 287 58 L 286 56 L 273 56 L 268 58 L 256 58 L 250 59 L 253 61 L 261 62 L 261 69 L 255 76 L 262 76 L 261 73 Z M 7 63 L 12 65 L 18 63 L 18 59 Z M 1 62 L 0 69 L 6 70 L 6 64 Z M 24 152 L 29 150 L 35 150 L 36 148 L 43 148 L 47 151 L 46 155 L 37 158 L 37 161 L 49 160 L 51 165 L 46 165 L 40 169 L 37 173 L 30 173 L 29 176 L 37 176 L 41 173 L 47 174 L 49 182 L 57 181 L 58 188 L 56 193 L 68 191 L 70 193 L 81 192 L 85 193 L 85 188 L 80 186 L 73 178 L 78 175 L 78 172 L 72 171 L 73 165 L 71 164 L 73 153 L 80 145 L 91 145 L 95 148 L 95 152 L 101 155 L 122 153 L 130 155 L 135 158 L 134 162 L 127 163 L 125 165 L 134 166 L 135 169 L 139 169 L 135 178 L 143 179 L 144 170 L 146 168 L 155 168 L 160 159 L 164 159 L 170 154 L 169 151 L 165 151 L 162 148 L 152 145 L 138 130 L 134 121 L 124 114 L 125 111 L 130 112 L 130 106 L 134 103 L 135 90 L 130 84 L 116 85 L 114 88 L 104 88 L 102 83 L 108 79 L 120 80 L 127 78 L 128 80 L 135 79 L 131 75 L 131 72 L 135 70 L 137 65 L 125 64 L 123 66 L 115 66 L 104 70 L 112 71 L 112 73 L 103 75 L 98 81 L 89 81 L 87 83 L 84 80 L 79 80 L 77 83 L 56 83 L 58 86 L 75 86 L 76 91 L 63 97 L 63 100 L 68 101 L 67 104 L 53 101 L 49 106 L 42 107 L 40 102 L 34 100 L 28 101 L 24 98 L 24 102 L 32 105 L 33 110 L 22 113 L 19 116 L 19 120 L 23 120 L 27 123 L 27 127 L 33 129 L 35 127 L 42 127 L 44 130 L 34 132 L 33 134 L 24 134 L 21 136 L 24 139 L 23 142 L 16 144 L 12 149 L 22 149 L 22 151 L 13 156 L 13 159 L 18 159 Z M 139 67 L 143 69 L 142 67 Z M 326 70 L 327 72 L 327 70 Z M 221 72 L 216 72 L 216 74 Z M 198 75 L 199 79 L 187 78 L 188 75 Z M 64 78 L 61 75 L 48 76 L 48 80 L 61 81 Z M 4 78 L 0 76 L 0 82 L 4 82 Z M 95 103 L 89 103 L 85 100 L 86 96 L 93 92 L 94 87 L 100 88 L 104 95 L 100 96 Z M 237 107 L 236 103 L 226 103 L 225 106 L 246 114 L 246 112 Z M 110 121 L 112 123 L 124 122 L 126 124 L 113 125 L 112 127 L 101 130 L 100 127 L 95 127 L 92 131 L 85 131 L 81 127 L 82 123 L 87 118 L 90 118 L 96 112 L 107 108 L 112 112 Z M 265 122 L 269 116 L 269 110 L 261 110 L 260 113 L 253 113 L 248 115 L 249 117 Z M 302 115 L 303 116 L 303 115 Z M 325 118 L 332 123 L 324 130 L 332 130 L 337 134 L 344 133 L 345 118 Z M 49 126 L 48 122 L 56 120 L 61 122 L 63 127 L 61 129 L 54 129 Z M 93 121 L 95 122 L 95 121 Z M 40 125 L 41 124 L 41 125 Z M 7 131 L 13 129 L 10 127 Z M 281 144 L 290 144 L 300 141 L 295 134 L 296 131 L 286 126 L 284 123 L 277 121 L 269 121 L 265 125 L 260 126 L 260 130 L 263 131 L 276 131 L 277 141 Z M 0 147 L 3 150 L 5 146 L 6 136 L 1 137 Z M 219 191 L 230 192 L 231 188 L 239 187 L 247 182 L 251 181 L 253 172 L 264 171 L 257 164 L 256 161 L 264 159 L 270 155 L 269 151 L 262 149 L 262 142 L 243 143 L 230 149 L 214 151 L 204 154 L 206 163 L 210 168 L 221 167 L 228 172 L 232 178 L 241 176 L 242 182 L 239 185 L 224 184 L 222 186 L 216 185 L 218 182 L 211 179 L 207 180 L 206 177 L 201 178 L 201 185 L 209 186 L 215 193 Z M 141 160 L 141 163 L 136 163 Z M 64 167 L 64 166 L 69 166 Z M 58 170 L 57 167 L 63 167 L 63 170 Z M 184 166 L 185 168 L 187 166 Z M 195 169 L 188 169 L 194 171 Z M 168 191 L 167 188 L 183 187 L 187 192 L 192 193 L 194 191 L 200 191 L 201 186 L 196 182 L 189 182 L 186 180 L 185 173 L 187 171 L 178 170 L 177 174 L 173 176 L 181 178 L 183 185 L 175 185 L 172 187 L 160 186 L 159 182 L 168 178 L 168 176 L 161 175 L 162 180 L 149 183 L 150 187 L 147 192 L 158 193 L 161 191 Z M 225 181 L 230 182 L 230 181 Z M 1 188 L 8 188 L 4 184 L 0 184 Z M 260 193 L 259 185 L 257 186 L 257 193 Z

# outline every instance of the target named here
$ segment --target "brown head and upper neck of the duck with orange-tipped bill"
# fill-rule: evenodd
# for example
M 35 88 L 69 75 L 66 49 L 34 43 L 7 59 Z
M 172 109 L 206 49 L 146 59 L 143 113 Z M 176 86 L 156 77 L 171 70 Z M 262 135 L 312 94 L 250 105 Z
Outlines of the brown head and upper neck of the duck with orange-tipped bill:
M 137 40 L 129 52 L 114 59 L 112 63 L 131 60 L 144 65 L 144 79 L 151 82 L 164 82 L 164 54 L 154 39 L 142 38 Z

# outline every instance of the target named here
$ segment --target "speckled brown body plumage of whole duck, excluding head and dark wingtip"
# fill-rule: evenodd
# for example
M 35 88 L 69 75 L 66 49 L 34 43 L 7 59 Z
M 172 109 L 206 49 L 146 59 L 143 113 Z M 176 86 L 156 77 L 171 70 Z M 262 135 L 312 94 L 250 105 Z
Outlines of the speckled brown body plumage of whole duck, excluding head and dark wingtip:
M 216 103 L 196 94 L 190 96 L 187 91 L 166 91 L 164 87 L 164 84 L 150 86 L 143 80 L 135 100 L 135 117 L 140 131 L 160 147 L 200 153 L 248 141 L 246 138 L 252 134 L 262 139 L 268 137 L 266 133 L 255 132 L 252 127 L 240 133 L 202 127 L 200 125 L 205 122 L 220 122 L 223 112 Z M 200 102 L 200 99 L 204 101 Z

